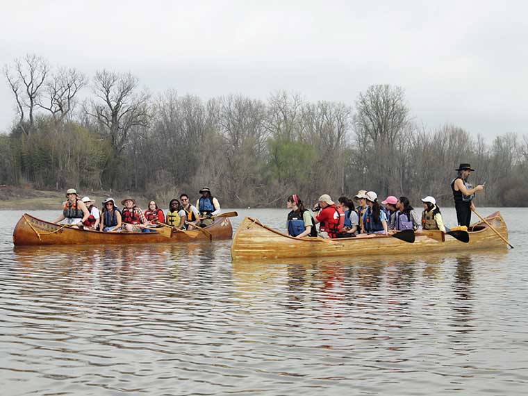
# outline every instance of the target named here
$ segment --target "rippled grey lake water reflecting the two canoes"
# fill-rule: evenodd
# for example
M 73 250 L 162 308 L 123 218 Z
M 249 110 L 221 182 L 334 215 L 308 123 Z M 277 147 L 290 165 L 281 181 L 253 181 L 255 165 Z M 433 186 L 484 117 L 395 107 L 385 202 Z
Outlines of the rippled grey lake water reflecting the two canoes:
M 528 209 L 501 211 L 515 249 L 283 263 L 15 248 L 22 212 L 1 211 L 0 394 L 526 395 Z

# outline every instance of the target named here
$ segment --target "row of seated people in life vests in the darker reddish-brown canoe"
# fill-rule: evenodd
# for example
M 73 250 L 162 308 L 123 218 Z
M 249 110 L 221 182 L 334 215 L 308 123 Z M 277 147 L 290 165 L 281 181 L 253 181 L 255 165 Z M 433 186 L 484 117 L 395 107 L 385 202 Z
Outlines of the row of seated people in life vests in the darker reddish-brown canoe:
M 105 232 L 151 232 L 160 226 L 191 230 L 213 223 L 213 216 L 220 214 L 220 202 L 211 195 L 208 187 L 199 190 L 201 197 L 196 206 L 192 205 L 187 194 L 180 199 L 172 199 L 167 213 L 158 208 L 156 201 L 149 201 L 148 208 L 142 211 L 136 206 L 135 199 L 126 197 L 117 208 L 115 199 L 107 198 L 102 202 L 101 211 L 94 206 L 90 197 L 79 198 L 77 191 L 70 188 L 66 192 L 67 201 L 63 203 L 63 213 L 55 221 L 89 231 Z

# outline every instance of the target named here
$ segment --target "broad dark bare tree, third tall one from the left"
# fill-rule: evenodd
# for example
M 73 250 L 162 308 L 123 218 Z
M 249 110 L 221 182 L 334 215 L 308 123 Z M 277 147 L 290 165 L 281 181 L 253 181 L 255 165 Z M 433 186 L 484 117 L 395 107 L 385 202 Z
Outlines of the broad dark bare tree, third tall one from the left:
M 86 111 L 104 126 L 115 154 L 119 156 L 133 127 L 149 125 L 150 95 L 137 92 L 138 79 L 132 74 L 103 70 L 95 74 L 93 84 L 97 99 L 90 102 L 90 108 Z

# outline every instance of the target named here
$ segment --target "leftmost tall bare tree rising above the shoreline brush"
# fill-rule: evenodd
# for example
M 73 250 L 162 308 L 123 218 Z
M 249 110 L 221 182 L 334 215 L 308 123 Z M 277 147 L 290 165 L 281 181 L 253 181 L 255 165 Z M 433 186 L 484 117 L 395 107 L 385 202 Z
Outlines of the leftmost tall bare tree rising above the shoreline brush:
M 47 74 L 49 65 L 44 58 L 36 55 L 26 55 L 23 59 L 15 59 L 13 65 L 3 68 L 8 84 L 15 95 L 19 124 L 24 122 L 24 108 L 28 110 L 30 133 L 35 123 L 35 110 L 38 106 L 40 91 Z

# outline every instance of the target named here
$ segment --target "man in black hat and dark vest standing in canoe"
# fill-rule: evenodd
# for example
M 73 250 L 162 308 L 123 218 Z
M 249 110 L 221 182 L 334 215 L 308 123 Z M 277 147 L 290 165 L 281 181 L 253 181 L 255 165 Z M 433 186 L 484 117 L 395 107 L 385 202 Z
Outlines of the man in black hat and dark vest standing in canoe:
M 456 220 L 459 222 L 459 226 L 470 226 L 471 222 L 471 211 L 475 209 L 475 192 L 484 190 L 484 184 L 479 184 L 477 187 L 473 187 L 468 179 L 471 172 L 471 165 L 468 163 L 461 163 L 459 172 L 451 182 L 451 190 L 453 191 L 454 208 L 456 210 Z

